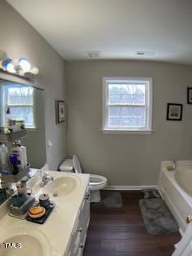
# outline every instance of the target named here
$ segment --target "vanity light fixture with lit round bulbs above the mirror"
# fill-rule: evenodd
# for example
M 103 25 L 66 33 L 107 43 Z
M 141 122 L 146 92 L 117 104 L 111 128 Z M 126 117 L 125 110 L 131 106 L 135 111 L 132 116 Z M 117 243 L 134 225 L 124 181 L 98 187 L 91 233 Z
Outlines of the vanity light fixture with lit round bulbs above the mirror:
M 13 59 L 3 50 L 0 50 L 0 70 L 22 77 L 26 74 L 38 74 L 38 67 L 33 66 L 26 58 Z

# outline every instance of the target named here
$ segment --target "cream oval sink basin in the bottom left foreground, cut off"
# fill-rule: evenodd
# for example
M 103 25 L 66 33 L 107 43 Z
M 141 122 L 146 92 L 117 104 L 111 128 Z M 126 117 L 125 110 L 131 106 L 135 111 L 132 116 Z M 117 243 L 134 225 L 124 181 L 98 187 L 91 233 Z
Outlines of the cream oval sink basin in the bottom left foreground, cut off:
M 0 235 L 0 256 L 50 256 L 50 245 L 46 236 L 38 230 L 23 227 L 5 230 Z

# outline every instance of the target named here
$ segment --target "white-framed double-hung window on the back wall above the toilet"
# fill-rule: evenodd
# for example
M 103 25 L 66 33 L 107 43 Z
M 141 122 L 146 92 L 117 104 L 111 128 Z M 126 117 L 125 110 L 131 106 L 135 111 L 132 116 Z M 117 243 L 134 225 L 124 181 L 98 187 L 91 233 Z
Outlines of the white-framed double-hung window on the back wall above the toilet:
M 152 78 L 103 78 L 103 127 L 151 131 Z

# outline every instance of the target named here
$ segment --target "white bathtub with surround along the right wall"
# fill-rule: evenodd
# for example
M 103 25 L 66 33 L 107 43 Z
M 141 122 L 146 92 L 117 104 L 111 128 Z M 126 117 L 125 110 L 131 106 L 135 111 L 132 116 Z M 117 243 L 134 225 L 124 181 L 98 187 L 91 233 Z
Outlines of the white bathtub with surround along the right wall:
M 161 164 L 158 190 L 184 234 L 187 215 L 192 215 L 192 161 L 178 161 L 174 171 L 166 170 L 172 162 Z

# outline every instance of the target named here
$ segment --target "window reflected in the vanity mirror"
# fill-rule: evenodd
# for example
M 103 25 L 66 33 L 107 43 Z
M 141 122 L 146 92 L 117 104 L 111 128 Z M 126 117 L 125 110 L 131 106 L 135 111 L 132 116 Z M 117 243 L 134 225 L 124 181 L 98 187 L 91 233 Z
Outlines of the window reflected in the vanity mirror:
M 26 128 L 35 128 L 33 87 L 4 85 L 3 100 L 6 110 L 10 110 L 10 114 L 5 115 L 4 122 L 6 118 L 24 120 Z

